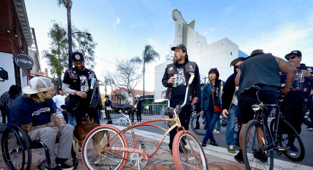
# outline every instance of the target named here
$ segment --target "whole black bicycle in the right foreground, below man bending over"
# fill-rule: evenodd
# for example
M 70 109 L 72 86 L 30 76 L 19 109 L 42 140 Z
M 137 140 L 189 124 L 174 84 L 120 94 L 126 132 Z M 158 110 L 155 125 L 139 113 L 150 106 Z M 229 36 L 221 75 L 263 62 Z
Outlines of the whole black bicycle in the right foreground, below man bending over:
M 247 123 L 243 132 L 242 150 L 246 169 L 273 169 L 274 151 L 277 156 L 284 154 L 292 161 L 302 161 L 305 149 L 300 136 L 281 116 L 277 104 L 263 104 L 259 100 L 259 89 L 258 86 L 245 89 L 246 92 L 254 93 L 258 100 L 252 106 L 255 111 L 254 120 Z M 267 112 L 267 107 L 271 106 L 275 107 L 277 111 L 275 118 L 268 126 L 263 112 Z

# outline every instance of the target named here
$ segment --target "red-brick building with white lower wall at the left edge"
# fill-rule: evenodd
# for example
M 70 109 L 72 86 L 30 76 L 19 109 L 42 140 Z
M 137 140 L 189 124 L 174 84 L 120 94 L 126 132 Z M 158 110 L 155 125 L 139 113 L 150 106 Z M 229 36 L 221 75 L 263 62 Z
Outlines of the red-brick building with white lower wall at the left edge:
M 34 29 L 28 23 L 24 0 L 1 0 L 0 5 L 0 67 L 8 72 L 8 80 L 0 82 L 0 95 L 8 91 L 11 85 L 20 89 L 28 86 L 31 71 L 36 75 L 40 70 L 38 49 L 32 50 Z M 18 54 L 29 55 L 34 63 L 30 69 L 22 69 L 13 61 Z M 32 76 L 34 76 L 32 75 Z

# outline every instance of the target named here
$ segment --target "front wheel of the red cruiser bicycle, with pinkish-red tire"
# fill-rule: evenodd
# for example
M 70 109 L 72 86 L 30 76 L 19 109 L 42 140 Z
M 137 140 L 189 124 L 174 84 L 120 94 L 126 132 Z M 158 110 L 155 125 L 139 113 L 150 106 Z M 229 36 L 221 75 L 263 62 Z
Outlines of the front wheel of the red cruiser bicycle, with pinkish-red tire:
M 190 131 L 186 131 L 186 134 L 184 131 L 179 131 L 173 141 L 173 159 L 176 169 L 208 169 L 200 142 Z

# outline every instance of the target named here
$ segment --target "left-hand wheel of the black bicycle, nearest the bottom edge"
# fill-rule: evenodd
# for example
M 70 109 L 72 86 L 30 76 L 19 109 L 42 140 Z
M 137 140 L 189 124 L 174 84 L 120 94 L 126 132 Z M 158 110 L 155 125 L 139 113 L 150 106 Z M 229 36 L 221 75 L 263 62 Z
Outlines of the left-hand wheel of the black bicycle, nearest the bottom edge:
M 268 132 L 263 131 L 263 126 L 259 121 L 252 120 L 247 123 L 242 139 L 244 165 L 247 170 L 272 170 L 274 168 L 273 149 L 266 149 L 272 142 L 270 142 Z

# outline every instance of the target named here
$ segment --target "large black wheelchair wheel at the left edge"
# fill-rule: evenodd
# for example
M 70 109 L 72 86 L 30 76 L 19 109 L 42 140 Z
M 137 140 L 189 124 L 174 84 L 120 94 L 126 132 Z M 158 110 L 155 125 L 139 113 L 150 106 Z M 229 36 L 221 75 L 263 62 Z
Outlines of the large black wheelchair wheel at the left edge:
M 32 153 L 26 131 L 16 125 L 10 125 L 1 139 L 2 155 L 8 169 L 30 169 Z

